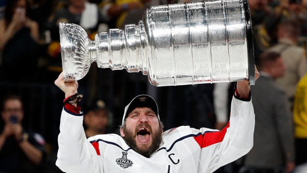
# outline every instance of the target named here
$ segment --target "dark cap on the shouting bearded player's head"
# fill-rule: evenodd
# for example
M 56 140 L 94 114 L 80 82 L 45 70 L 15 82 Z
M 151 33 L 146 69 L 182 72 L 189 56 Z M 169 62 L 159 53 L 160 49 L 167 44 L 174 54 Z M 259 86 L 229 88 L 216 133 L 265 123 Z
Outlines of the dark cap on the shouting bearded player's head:
M 129 115 L 131 111 L 133 111 L 136 108 L 143 108 L 143 107 L 151 108 L 153 112 L 155 113 L 155 115 L 157 115 L 158 119 L 160 120 L 160 117 L 158 114 L 158 106 L 156 102 L 151 96 L 143 94 L 143 95 L 139 95 L 135 97 L 134 99 L 132 99 L 132 101 L 125 107 L 125 112 L 124 112 L 123 120 L 121 124 L 124 124 L 124 120 L 126 119 L 126 116 Z

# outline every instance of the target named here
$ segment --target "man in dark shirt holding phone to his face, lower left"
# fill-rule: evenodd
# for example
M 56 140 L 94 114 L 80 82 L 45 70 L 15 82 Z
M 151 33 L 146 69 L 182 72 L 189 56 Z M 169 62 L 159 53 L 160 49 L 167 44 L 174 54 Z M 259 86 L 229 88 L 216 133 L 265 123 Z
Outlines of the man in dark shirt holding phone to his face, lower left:
M 3 101 L 1 117 L 4 127 L 0 133 L 0 172 L 37 173 L 44 157 L 44 138 L 26 131 L 20 97 L 8 96 Z

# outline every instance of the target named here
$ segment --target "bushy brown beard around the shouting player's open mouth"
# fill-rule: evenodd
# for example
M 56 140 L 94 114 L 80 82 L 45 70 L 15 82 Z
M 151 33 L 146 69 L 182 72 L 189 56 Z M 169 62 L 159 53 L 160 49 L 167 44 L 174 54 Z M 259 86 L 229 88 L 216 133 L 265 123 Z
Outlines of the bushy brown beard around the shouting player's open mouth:
M 139 127 L 146 127 L 150 129 L 150 132 L 151 132 L 150 135 L 152 136 L 152 139 L 153 139 L 152 145 L 148 146 L 148 144 L 145 144 L 145 145 L 141 145 L 140 147 L 137 146 L 135 139 L 137 137 L 137 130 Z M 127 127 L 123 129 L 123 132 L 125 134 L 125 137 L 123 137 L 123 139 L 125 140 L 127 145 L 135 152 L 147 158 L 149 158 L 149 156 L 153 154 L 153 152 L 155 152 L 160 147 L 160 144 L 162 142 L 161 134 L 163 131 L 160 126 L 157 130 L 153 131 L 152 127 L 149 124 L 139 124 L 136 127 L 135 132 L 133 132 L 130 129 L 127 129 Z

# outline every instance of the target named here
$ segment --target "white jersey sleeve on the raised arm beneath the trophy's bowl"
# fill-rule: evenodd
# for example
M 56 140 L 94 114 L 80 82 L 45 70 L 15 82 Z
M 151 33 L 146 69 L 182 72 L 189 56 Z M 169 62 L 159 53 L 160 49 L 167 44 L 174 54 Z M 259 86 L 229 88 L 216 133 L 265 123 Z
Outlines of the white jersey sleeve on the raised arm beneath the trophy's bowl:
M 65 173 L 103 173 L 101 158 L 87 140 L 82 123 L 83 113 L 75 114 L 64 107 L 55 165 Z

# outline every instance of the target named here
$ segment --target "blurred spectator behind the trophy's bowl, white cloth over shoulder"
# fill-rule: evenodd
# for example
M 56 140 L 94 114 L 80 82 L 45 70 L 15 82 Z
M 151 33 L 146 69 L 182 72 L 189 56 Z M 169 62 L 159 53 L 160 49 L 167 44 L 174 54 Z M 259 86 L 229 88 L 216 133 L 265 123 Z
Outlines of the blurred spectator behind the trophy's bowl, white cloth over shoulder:
M 97 4 L 89 3 L 87 0 L 69 0 L 67 5 L 55 11 L 49 21 L 52 42 L 48 47 L 48 54 L 51 57 L 48 70 L 50 75 L 58 76 L 62 71 L 62 60 L 60 54 L 59 22 L 73 23 L 80 25 L 94 40 L 100 24 L 106 20 L 102 16 Z M 50 78 L 51 78 L 50 76 Z

